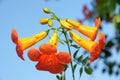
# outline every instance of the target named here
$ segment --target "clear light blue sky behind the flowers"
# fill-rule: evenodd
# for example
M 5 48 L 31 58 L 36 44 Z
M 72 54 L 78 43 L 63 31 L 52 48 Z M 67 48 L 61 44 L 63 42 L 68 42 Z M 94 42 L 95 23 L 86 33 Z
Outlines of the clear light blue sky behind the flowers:
M 0 0 L 0 80 L 56 80 L 55 75 L 37 71 L 34 62 L 27 57 L 27 50 L 24 51 L 25 61 L 18 58 L 15 45 L 11 41 L 11 30 L 15 28 L 19 37 L 27 37 L 48 29 L 45 25 L 39 24 L 39 19 L 50 17 L 44 14 L 42 8 L 47 7 L 56 13 L 60 18 L 70 18 L 77 20 L 83 18 L 82 6 L 89 4 L 92 0 Z M 85 25 L 93 26 L 94 23 L 86 22 Z M 104 25 L 104 22 L 102 23 Z M 56 25 L 57 26 L 57 25 Z M 104 33 L 113 35 L 111 24 L 104 27 Z M 111 33 L 110 33 L 111 32 Z M 33 47 L 38 47 L 41 43 L 47 42 L 45 39 Z M 58 47 L 59 49 L 61 46 Z M 98 60 L 99 61 L 99 60 Z M 99 61 L 100 62 L 100 61 Z M 94 64 L 94 63 L 93 63 Z M 66 72 L 67 80 L 71 80 L 70 70 Z M 76 80 L 79 76 L 76 73 Z M 83 74 L 81 80 L 114 80 L 114 76 L 109 77 L 107 74 L 100 75 L 100 71 L 94 71 L 93 75 Z

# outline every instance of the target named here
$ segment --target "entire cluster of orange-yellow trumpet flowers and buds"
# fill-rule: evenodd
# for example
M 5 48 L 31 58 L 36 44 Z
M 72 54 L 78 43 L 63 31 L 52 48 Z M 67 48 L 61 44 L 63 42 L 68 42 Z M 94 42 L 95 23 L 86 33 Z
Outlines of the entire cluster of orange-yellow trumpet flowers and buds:
M 94 41 L 96 39 L 96 35 L 101 24 L 101 20 L 99 17 L 95 20 L 95 26 L 89 27 L 71 19 L 62 20 L 58 18 L 48 8 L 44 8 L 43 11 L 47 14 L 52 14 L 52 18 L 40 19 L 40 24 L 48 24 L 48 26 L 50 26 L 48 30 L 39 32 L 33 36 L 29 36 L 26 38 L 18 38 L 16 30 L 12 29 L 11 39 L 16 45 L 17 55 L 22 60 L 24 60 L 24 50 L 30 48 L 40 40 L 47 37 L 48 32 L 51 30 L 54 30 L 54 32 L 47 43 L 41 44 L 38 49 L 31 48 L 28 50 L 29 59 L 31 61 L 38 62 L 35 66 L 37 70 L 44 70 L 49 71 L 53 74 L 57 74 L 65 70 L 64 65 L 72 63 L 68 35 L 70 35 L 71 40 L 75 41 L 78 45 L 90 52 L 90 59 L 88 61 L 89 63 L 93 62 L 100 56 L 101 49 L 105 45 L 104 34 L 100 32 L 98 35 L 98 42 Z M 53 20 L 57 20 L 60 23 L 60 27 L 53 28 Z M 72 30 L 76 30 L 90 39 L 84 39 L 78 34 L 74 33 Z M 57 52 L 58 42 L 60 42 L 58 32 L 64 34 L 64 37 L 66 38 L 66 41 L 64 42 L 68 44 L 69 52 Z

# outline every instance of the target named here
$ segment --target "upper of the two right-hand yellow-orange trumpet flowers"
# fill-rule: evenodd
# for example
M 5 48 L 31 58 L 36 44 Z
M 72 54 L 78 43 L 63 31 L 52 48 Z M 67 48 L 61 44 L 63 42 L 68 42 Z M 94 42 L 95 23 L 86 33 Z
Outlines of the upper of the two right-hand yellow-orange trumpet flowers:
M 95 27 L 84 26 L 78 22 L 68 19 L 68 23 L 73 25 L 73 28 L 79 31 L 80 33 L 84 34 L 85 36 L 89 37 L 92 41 L 96 38 L 96 33 L 100 27 L 101 20 L 100 18 L 96 18 L 95 20 Z

